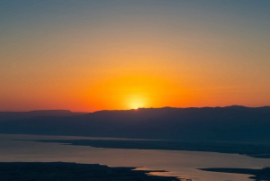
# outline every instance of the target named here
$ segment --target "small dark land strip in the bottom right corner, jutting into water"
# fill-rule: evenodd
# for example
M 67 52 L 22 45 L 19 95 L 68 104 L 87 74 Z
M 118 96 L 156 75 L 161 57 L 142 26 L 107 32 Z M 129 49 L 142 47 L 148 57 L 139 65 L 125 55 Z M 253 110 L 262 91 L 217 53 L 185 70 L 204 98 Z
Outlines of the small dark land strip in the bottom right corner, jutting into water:
M 200 169 L 204 171 L 212 171 L 212 172 L 253 175 L 253 176 L 249 176 L 249 178 L 255 179 L 256 181 L 270 181 L 270 167 L 265 167 L 263 169 L 219 168 L 219 167 L 200 168 Z

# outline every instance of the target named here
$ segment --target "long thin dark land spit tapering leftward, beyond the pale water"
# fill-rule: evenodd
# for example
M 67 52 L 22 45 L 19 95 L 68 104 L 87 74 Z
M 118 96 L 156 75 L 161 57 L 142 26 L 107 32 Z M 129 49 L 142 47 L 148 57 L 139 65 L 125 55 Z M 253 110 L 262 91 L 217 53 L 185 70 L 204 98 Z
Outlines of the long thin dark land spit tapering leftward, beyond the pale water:
M 270 158 L 270 144 L 249 142 L 211 142 L 181 140 L 29 140 L 59 144 L 90 146 L 103 149 L 159 149 L 186 150 L 245 155 L 252 158 Z M 231 149 L 233 148 L 233 149 Z M 256 148 L 256 149 L 255 149 Z

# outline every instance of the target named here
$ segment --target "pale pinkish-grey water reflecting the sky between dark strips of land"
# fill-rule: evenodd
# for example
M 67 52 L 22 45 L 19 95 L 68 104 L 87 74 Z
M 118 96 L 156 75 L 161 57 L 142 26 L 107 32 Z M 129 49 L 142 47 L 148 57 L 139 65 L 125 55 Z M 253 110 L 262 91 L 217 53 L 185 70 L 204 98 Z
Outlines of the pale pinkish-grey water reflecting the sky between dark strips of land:
M 65 161 L 97 163 L 110 167 L 139 167 L 137 169 L 166 170 L 154 172 L 162 176 L 180 176 L 193 180 L 244 181 L 247 175 L 214 173 L 198 170 L 202 167 L 270 167 L 270 159 L 250 158 L 238 154 L 213 152 L 101 149 L 29 140 L 89 139 L 64 136 L 0 135 L 0 161 Z M 97 139 L 97 138 L 94 138 Z

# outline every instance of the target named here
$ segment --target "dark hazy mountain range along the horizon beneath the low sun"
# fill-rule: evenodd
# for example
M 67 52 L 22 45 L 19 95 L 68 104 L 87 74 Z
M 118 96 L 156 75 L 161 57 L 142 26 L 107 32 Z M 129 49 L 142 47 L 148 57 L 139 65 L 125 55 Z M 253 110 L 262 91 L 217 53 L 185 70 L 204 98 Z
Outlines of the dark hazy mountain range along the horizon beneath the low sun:
M 46 114 L 0 122 L 1 133 L 267 143 L 270 142 L 269 130 L 269 106 L 237 105 L 140 108 L 65 117 Z

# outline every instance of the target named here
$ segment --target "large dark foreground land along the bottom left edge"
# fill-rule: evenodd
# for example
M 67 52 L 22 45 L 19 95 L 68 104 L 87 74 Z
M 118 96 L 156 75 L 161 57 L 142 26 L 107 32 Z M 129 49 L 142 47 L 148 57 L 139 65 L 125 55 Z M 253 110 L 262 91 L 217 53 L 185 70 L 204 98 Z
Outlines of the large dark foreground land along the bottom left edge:
M 64 162 L 0 162 L 1 181 L 173 181 L 174 176 L 148 176 L 151 171 L 135 167 Z

